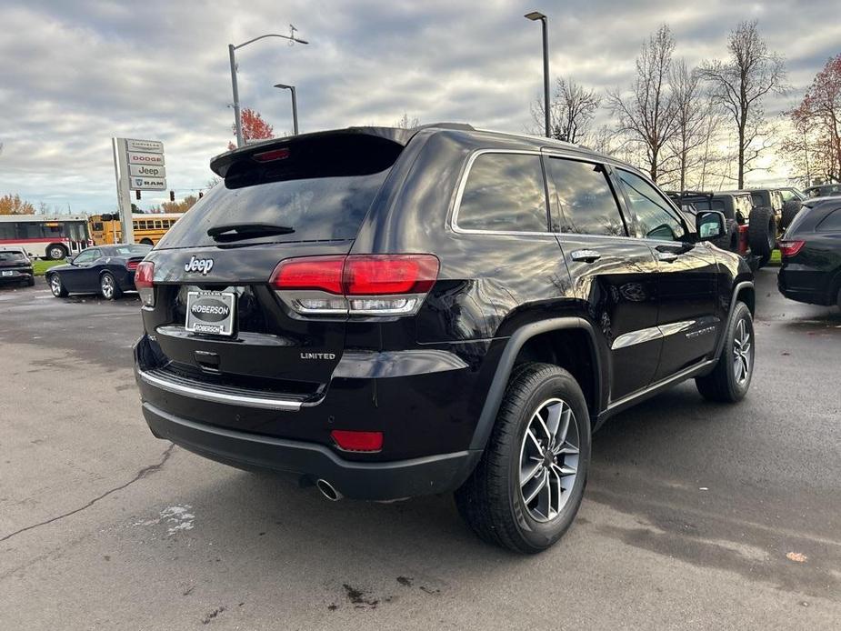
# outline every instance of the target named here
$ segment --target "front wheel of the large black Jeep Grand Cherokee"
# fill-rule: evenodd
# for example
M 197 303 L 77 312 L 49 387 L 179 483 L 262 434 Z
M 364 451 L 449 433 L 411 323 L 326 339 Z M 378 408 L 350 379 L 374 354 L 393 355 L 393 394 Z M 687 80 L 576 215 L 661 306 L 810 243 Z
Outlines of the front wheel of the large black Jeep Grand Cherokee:
M 740 328 L 740 323 L 743 323 L 744 329 Z M 736 362 L 741 362 L 737 357 L 737 349 L 742 345 L 742 342 L 736 342 L 736 337 L 741 337 L 742 331 L 747 332 L 747 343 L 750 345 L 745 351 L 746 376 L 744 380 L 736 375 Z M 738 302 L 730 317 L 730 322 L 727 323 L 724 347 L 721 349 L 721 356 L 718 357 L 716 367 L 709 375 L 696 377 L 695 384 L 701 396 L 719 403 L 736 403 L 744 398 L 754 375 L 755 340 L 754 319 L 750 315 L 750 309 L 745 303 Z

